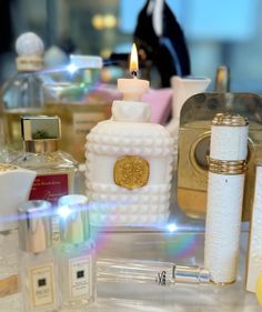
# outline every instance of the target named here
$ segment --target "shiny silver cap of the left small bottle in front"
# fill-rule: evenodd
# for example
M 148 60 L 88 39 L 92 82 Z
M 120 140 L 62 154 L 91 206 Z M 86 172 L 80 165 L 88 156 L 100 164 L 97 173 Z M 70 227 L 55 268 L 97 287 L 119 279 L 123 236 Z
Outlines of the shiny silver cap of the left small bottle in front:
M 18 212 L 20 249 L 27 252 L 43 252 L 51 245 L 51 203 L 43 200 L 27 201 Z

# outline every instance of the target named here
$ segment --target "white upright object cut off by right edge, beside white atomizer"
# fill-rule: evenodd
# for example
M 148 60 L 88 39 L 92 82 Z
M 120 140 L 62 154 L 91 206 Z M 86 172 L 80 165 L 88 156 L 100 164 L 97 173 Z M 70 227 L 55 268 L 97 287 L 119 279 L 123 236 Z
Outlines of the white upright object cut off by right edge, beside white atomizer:
M 255 284 L 262 274 L 262 167 L 256 168 L 254 203 L 250 232 L 246 290 L 255 291 Z

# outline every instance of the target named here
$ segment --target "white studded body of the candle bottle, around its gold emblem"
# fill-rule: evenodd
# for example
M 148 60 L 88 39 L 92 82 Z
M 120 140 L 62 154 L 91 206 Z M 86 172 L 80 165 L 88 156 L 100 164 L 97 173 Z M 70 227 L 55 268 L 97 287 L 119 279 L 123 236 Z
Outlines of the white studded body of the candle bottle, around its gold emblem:
M 107 120 L 94 127 L 87 140 L 91 223 L 118 227 L 165 222 L 173 159 L 173 140 L 168 131 L 160 124 Z M 115 184 L 113 169 L 123 157 L 139 157 L 149 163 L 147 184 L 134 189 Z

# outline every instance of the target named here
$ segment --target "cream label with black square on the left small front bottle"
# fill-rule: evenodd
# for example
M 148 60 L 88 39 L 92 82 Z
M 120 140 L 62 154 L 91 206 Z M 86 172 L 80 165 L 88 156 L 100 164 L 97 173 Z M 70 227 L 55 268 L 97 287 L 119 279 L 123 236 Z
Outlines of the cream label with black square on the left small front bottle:
M 54 303 L 53 263 L 30 269 L 30 294 L 33 308 Z

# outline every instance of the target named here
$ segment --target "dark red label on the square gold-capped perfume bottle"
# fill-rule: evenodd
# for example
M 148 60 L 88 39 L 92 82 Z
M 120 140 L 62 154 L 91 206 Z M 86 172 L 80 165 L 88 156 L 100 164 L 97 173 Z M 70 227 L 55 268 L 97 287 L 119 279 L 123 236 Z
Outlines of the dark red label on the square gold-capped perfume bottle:
M 57 202 L 69 193 L 69 177 L 67 173 L 37 175 L 33 181 L 30 200 L 47 200 Z

